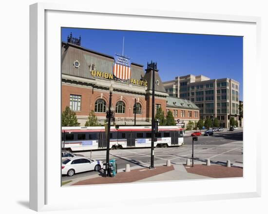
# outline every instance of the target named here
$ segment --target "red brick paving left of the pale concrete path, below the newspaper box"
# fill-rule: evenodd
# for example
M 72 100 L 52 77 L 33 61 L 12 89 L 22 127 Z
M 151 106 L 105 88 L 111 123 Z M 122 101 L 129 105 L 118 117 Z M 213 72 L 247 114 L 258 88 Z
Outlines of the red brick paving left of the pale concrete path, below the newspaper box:
M 130 172 L 119 172 L 115 177 L 102 177 L 100 175 L 96 178 L 78 181 L 73 185 L 130 183 L 172 170 L 174 170 L 173 166 L 160 166 L 152 170 L 149 170 L 148 168 L 140 168 Z

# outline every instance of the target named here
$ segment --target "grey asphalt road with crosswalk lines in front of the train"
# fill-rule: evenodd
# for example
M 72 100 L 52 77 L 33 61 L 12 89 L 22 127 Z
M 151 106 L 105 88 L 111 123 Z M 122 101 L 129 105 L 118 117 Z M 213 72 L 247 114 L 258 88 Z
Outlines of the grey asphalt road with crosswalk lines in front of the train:
M 77 152 L 78 153 L 78 152 Z M 79 152 L 86 157 L 91 153 Z M 184 137 L 184 145 L 181 147 L 155 148 L 154 165 L 166 164 L 167 159 L 172 164 L 186 163 L 187 158 L 191 158 L 192 137 Z M 92 158 L 96 160 L 106 160 L 106 150 L 93 151 Z M 235 166 L 243 166 L 243 131 L 215 132 L 213 136 L 198 136 L 198 141 L 194 141 L 194 163 L 205 163 L 210 158 L 211 163 L 224 164 L 227 160 Z M 118 169 L 125 169 L 126 164 L 131 167 L 149 167 L 151 164 L 151 149 L 123 149 L 110 150 L 110 159 L 115 159 Z M 74 178 L 97 174 L 97 171 L 88 171 L 75 174 L 72 177 L 63 175 L 62 181 Z

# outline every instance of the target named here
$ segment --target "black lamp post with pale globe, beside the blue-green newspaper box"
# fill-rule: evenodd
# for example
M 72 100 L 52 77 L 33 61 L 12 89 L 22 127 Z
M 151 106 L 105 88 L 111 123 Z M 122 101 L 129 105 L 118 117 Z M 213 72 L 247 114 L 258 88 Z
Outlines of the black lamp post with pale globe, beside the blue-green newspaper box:
M 111 84 L 110 88 L 110 97 L 109 97 L 109 108 L 106 110 L 106 118 L 108 120 L 108 127 L 107 127 L 107 148 L 106 148 L 106 167 L 104 170 L 104 174 L 107 173 L 107 177 L 109 175 L 108 173 L 108 166 L 109 166 L 109 152 L 110 152 L 110 128 L 111 128 L 111 119 L 113 118 L 114 109 L 112 106 L 112 94 L 113 94 L 113 86 Z

